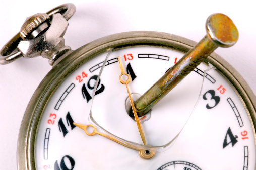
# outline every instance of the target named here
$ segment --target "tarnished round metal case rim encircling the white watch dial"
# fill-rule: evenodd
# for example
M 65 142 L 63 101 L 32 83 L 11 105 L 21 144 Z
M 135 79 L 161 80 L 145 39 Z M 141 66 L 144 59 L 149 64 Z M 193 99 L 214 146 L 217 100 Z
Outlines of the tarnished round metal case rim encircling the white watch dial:
M 97 39 L 69 54 L 44 77 L 27 106 L 18 140 L 18 169 L 36 169 L 35 140 L 42 113 L 59 84 L 80 65 L 101 53 L 107 52 L 110 48 L 116 50 L 132 46 L 156 46 L 186 53 L 194 45 L 196 45 L 194 41 L 168 33 L 133 31 Z M 256 97 L 248 84 L 227 61 L 216 53 L 212 53 L 205 62 L 210 62 L 217 67 L 237 89 L 238 94 L 250 112 L 255 136 Z

